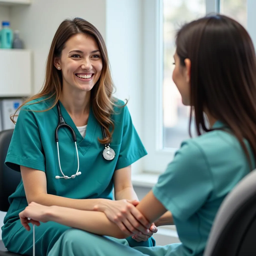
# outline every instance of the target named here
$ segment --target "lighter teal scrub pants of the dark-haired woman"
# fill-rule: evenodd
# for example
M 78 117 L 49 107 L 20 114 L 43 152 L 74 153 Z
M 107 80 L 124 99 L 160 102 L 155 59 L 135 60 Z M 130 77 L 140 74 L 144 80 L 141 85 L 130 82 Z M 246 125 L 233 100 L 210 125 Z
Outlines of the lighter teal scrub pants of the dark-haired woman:
M 98 236 L 79 229 L 65 231 L 48 256 L 164 256 L 178 254 L 179 244 L 129 247 L 126 239 Z

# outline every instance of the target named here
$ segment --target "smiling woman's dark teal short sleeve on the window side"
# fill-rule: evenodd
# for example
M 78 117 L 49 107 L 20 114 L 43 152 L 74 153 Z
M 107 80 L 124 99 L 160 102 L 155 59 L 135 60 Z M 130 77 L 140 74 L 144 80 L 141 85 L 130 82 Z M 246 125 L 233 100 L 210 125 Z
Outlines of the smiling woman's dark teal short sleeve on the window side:
M 122 142 L 116 170 L 127 167 L 147 154 L 140 137 L 132 123 L 130 112 L 127 106 L 123 107 Z

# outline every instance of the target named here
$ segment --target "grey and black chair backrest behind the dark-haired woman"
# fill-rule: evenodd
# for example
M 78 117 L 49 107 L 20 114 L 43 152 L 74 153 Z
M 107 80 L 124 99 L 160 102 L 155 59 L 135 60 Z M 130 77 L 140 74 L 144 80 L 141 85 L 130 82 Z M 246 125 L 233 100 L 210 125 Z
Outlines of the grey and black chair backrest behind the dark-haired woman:
M 217 255 L 256 255 L 256 170 L 220 206 L 204 252 L 204 256 Z

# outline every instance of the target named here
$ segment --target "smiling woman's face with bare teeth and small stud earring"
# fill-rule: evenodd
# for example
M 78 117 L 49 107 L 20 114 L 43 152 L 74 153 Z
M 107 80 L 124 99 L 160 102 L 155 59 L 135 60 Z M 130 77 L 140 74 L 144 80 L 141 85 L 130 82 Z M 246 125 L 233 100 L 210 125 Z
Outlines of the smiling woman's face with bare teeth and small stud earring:
M 102 58 L 96 40 L 86 34 L 76 34 L 69 38 L 54 66 L 61 70 L 63 88 L 90 91 L 99 80 Z

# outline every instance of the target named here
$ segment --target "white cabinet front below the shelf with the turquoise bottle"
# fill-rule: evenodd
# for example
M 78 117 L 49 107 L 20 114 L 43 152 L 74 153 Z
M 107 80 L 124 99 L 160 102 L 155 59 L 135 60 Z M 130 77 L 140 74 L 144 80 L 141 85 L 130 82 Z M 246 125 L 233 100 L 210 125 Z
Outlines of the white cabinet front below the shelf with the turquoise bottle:
M 32 52 L 0 49 L 0 97 L 23 97 L 32 92 Z

